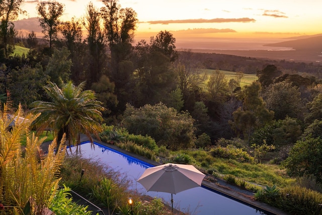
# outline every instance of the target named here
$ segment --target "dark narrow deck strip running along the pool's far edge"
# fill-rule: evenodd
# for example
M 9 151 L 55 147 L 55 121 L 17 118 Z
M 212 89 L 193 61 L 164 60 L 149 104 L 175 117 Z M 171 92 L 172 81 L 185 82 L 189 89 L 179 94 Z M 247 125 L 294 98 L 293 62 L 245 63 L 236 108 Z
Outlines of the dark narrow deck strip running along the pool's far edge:
M 81 142 L 86 142 L 86 141 L 89 141 L 88 137 L 86 135 L 81 135 Z M 117 151 L 119 151 L 121 153 L 124 153 L 124 154 L 127 154 L 129 156 L 132 156 L 132 157 L 134 157 L 136 159 L 144 161 L 146 163 L 152 164 L 154 166 L 161 165 L 158 162 L 155 162 L 155 161 L 152 161 L 152 160 L 147 159 L 145 157 L 142 157 L 142 156 L 136 155 L 134 153 L 122 150 L 122 149 L 118 148 L 117 146 L 107 144 L 106 142 L 102 142 L 102 141 L 99 141 L 97 139 L 94 139 L 94 141 L 99 143 L 99 144 L 102 144 L 104 146 L 107 146 L 109 148 L 112 148 L 114 150 L 117 150 Z M 41 149 L 44 152 L 46 152 L 48 150 L 49 144 L 50 144 L 50 141 L 49 142 L 43 142 L 43 144 L 41 145 Z M 234 199 L 236 201 L 239 201 L 239 202 L 248 204 L 248 205 L 250 205 L 250 206 L 252 206 L 254 208 L 258 208 L 260 210 L 263 210 L 268 214 L 272 214 L 272 215 L 273 214 L 276 214 L 276 215 L 287 215 L 288 214 L 288 213 L 286 213 L 286 212 L 284 212 L 284 211 L 282 211 L 282 210 L 280 210 L 280 209 L 278 209 L 276 207 L 272 207 L 271 205 L 268 205 L 266 203 L 256 201 L 254 199 L 254 193 L 253 192 L 251 192 L 249 190 L 241 189 L 241 188 L 239 188 L 237 186 L 234 186 L 234 185 L 231 185 L 231 184 L 228 184 L 226 181 L 221 180 L 221 179 L 217 179 L 214 182 L 203 180 L 202 186 L 207 187 L 209 189 L 213 189 L 215 191 L 218 191 L 218 192 L 222 193 L 223 195 L 228 196 L 228 197 L 230 197 L 230 198 L 232 198 L 232 199 Z

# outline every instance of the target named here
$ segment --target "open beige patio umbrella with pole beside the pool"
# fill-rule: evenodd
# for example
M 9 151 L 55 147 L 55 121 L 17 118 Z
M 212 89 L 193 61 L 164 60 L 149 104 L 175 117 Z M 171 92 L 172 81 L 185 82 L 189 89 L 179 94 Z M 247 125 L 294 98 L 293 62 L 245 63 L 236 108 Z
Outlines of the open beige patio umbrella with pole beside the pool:
M 205 174 L 192 165 L 164 164 L 147 168 L 137 180 L 147 191 L 171 193 L 173 209 L 173 194 L 199 187 Z

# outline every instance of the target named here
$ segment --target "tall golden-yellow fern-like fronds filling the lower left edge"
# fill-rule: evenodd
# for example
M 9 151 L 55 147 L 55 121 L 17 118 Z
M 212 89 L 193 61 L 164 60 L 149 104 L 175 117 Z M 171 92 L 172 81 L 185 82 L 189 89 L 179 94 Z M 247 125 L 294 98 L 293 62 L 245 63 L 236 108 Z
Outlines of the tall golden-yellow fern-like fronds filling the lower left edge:
M 9 107 L 5 105 L 0 120 L 0 192 L 4 194 L 0 196 L 0 202 L 30 208 L 33 214 L 37 214 L 46 210 L 58 190 L 60 165 L 66 149 L 65 138 L 56 153 L 54 140 L 48 154 L 42 154 L 40 145 L 45 138 L 39 139 L 29 132 L 30 124 L 38 115 L 25 116 L 9 131 L 8 126 L 13 120 L 8 118 Z M 21 106 L 15 116 L 23 116 Z M 27 135 L 27 142 L 23 153 L 20 141 L 24 135 Z

